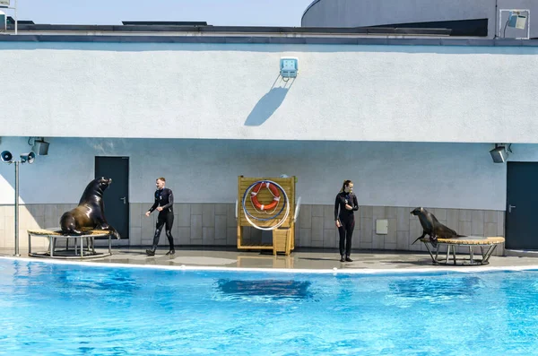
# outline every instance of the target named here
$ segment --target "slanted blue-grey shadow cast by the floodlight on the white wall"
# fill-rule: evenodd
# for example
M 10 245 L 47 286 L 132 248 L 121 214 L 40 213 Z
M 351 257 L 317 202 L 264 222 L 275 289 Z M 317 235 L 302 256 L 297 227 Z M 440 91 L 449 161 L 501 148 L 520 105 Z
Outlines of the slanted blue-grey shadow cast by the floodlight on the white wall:
M 245 126 L 263 125 L 273 115 L 274 111 L 281 106 L 286 94 L 291 89 L 291 85 L 293 85 L 294 79 L 289 81 L 290 86 L 288 86 L 288 82 L 284 82 L 282 79 L 279 81 L 280 78 L 281 76 L 279 75 L 273 82 L 271 90 L 267 91 L 262 99 L 258 100 L 254 109 L 248 114 Z M 281 86 L 275 86 L 277 82 Z

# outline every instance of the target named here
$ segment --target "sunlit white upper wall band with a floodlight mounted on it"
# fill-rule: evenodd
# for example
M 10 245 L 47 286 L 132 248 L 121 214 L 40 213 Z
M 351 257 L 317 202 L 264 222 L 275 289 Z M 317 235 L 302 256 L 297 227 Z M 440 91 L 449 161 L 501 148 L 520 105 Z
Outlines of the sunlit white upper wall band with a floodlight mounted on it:
M 0 136 L 538 143 L 537 54 L 0 42 Z M 281 56 L 299 57 L 288 89 Z

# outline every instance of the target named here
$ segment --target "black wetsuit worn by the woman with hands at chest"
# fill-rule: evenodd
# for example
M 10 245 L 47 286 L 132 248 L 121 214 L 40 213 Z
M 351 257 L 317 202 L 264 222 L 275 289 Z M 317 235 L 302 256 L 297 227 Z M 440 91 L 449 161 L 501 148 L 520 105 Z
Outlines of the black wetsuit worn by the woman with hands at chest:
M 347 210 L 345 204 L 351 205 L 352 210 Z M 353 212 L 359 210 L 359 204 L 357 203 L 357 195 L 353 193 L 340 192 L 336 195 L 336 201 L 334 202 L 334 221 L 340 221 L 340 227 L 338 233 L 340 235 L 340 255 L 344 256 L 344 242 L 345 242 L 345 256 L 351 255 L 351 237 L 353 236 L 353 230 L 355 229 L 355 215 Z

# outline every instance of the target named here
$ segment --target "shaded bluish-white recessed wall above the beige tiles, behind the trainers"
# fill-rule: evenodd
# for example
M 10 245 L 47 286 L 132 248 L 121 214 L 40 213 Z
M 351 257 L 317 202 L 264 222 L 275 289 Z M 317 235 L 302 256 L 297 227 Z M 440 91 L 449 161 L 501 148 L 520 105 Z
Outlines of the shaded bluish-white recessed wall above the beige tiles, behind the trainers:
M 27 152 L 27 138 L 0 150 Z M 20 173 L 22 201 L 77 203 L 93 178 L 94 156 L 130 157 L 131 203 L 150 203 L 164 176 L 178 202 L 233 203 L 237 179 L 298 177 L 303 204 L 333 204 L 352 179 L 360 204 L 505 210 L 505 164 L 483 143 L 343 143 L 247 140 L 52 138 L 48 156 Z M 514 144 L 509 159 L 538 161 L 538 145 Z M 0 204 L 13 204 L 13 165 L 0 164 Z M 114 183 L 113 183 L 114 185 Z

